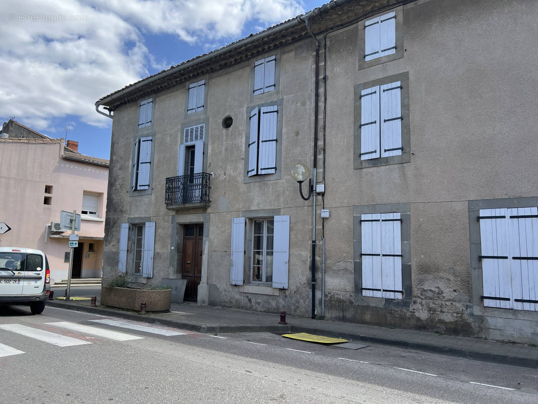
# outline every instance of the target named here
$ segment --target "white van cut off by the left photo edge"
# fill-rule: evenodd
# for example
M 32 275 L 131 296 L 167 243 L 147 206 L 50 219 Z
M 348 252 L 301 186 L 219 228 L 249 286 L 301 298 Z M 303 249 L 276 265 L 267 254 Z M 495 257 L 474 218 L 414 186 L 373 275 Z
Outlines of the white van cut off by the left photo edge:
M 0 304 L 26 305 L 40 314 L 50 290 L 51 270 L 43 252 L 0 247 Z

